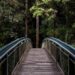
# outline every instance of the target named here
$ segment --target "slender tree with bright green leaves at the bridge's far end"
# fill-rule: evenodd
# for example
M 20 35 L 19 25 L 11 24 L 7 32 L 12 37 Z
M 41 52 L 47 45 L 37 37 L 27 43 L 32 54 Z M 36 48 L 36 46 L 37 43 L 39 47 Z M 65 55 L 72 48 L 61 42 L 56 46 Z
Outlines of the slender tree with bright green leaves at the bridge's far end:
M 36 4 L 34 4 L 31 8 L 30 11 L 33 13 L 33 17 L 36 17 L 36 47 L 38 47 L 38 42 L 39 42 L 39 17 L 44 17 L 49 19 L 52 19 L 55 17 L 56 11 L 48 6 L 48 2 L 50 0 L 36 0 Z

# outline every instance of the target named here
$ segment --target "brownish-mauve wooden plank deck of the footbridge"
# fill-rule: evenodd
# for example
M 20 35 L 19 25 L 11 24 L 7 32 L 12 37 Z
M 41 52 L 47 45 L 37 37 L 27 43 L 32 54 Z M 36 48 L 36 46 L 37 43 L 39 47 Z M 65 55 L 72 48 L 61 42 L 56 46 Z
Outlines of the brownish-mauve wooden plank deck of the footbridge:
M 64 75 L 44 49 L 33 48 L 15 67 L 12 75 Z

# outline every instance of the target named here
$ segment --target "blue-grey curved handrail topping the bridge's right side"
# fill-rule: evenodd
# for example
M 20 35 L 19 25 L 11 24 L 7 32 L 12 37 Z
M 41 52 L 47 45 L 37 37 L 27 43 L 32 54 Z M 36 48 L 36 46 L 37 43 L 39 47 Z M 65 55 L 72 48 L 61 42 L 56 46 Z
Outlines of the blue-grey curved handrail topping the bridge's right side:
M 61 41 L 60 39 L 54 38 L 54 37 L 46 38 L 46 39 L 44 39 L 44 41 L 45 40 L 49 40 L 49 41 L 55 43 L 56 45 L 60 46 L 67 53 L 69 53 L 69 55 L 75 60 L 75 48 L 74 47 L 72 47 L 71 45 Z

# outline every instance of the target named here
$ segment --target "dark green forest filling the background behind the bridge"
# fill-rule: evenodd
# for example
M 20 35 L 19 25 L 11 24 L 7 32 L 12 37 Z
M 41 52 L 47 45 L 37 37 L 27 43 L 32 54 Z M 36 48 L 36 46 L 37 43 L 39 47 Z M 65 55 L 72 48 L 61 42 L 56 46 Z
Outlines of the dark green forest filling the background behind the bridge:
M 36 20 L 36 17 L 38 19 Z M 0 0 L 0 47 L 19 37 L 56 37 L 75 47 L 75 0 Z

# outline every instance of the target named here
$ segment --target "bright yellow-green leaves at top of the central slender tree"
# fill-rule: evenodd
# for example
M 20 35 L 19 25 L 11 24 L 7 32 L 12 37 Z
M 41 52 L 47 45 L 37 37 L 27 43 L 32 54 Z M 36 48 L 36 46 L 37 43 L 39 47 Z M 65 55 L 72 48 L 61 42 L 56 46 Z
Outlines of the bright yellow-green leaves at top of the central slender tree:
M 32 12 L 33 17 L 41 16 L 41 17 L 46 17 L 47 19 L 54 18 L 57 11 L 51 7 L 47 7 L 49 2 L 50 0 L 42 0 L 42 1 L 38 0 L 36 4 L 34 4 L 30 8 L 30 11 Z M 43 7 L 43 5 L 45 7 Z

